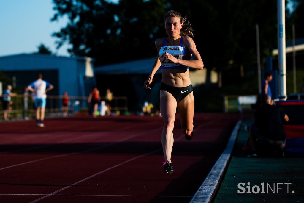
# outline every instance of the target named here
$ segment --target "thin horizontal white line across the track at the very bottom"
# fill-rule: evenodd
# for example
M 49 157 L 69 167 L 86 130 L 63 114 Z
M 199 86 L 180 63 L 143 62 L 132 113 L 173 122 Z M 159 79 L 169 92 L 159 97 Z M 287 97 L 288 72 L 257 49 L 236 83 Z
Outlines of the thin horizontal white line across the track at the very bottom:
M 162 197 L 162 198 L 191 198 L 192 196 L 155 196 L 155 195 L 115 195 L 115 194 L 0 194 L 0 195 L 29 195 L 29 196 L 88 196 L 88 197 Z

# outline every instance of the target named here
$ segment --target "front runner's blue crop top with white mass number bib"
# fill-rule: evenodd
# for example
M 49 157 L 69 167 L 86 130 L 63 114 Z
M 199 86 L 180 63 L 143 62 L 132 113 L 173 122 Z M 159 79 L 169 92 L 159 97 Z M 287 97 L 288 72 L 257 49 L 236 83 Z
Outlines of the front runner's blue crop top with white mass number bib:
M 179 38 L 179 44 L 178 46 L 167 46 L 167 37 L 164 38 L 164 41 L 161 45 L 161 49 L 159 51 L 159 59 L 161 61 L 161 69 L 174 69 L 174 68 L 187 68 L 189 69 L 189 67 L 183 66 L 181 64 L 178 63 L 173 63 L 172 61 L 170 61 L 169 59 L 164 59 L 161 58 L 161 56 L 167 52 L 171 55 L 173 55 L 175 58 L 177 59 L 183 59 L 183 60 L 189 60 L 191 59 L 191 53 L 188 52 L 184 46 L 183 43 L 183 36 L 181 36 L 181 38 Z

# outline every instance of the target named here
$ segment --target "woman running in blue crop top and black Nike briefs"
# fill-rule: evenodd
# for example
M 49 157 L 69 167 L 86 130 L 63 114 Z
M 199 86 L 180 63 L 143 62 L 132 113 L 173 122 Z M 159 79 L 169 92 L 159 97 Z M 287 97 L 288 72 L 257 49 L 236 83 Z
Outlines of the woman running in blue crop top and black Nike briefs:
M 161 67 L 160 110 L 164 119 L 161 134 L 164 152 L 163 168 L 165 173 L 170 174 L 173 173 L 171 152 L 176 108 L 181 118 L 183 133 L 189 141 L 193 137 L 194 116 L 194 97 L 189 68 L 202 70 L 204 64 L 191 38 L 193 30 L 187 18 L 171 10 L 165 15 L 164 21 L 168 37 L 155 41 L 158 56 L 143 86 L 145 89 L 151 89 L 149 85 L 152 83 L 154 74 Z

